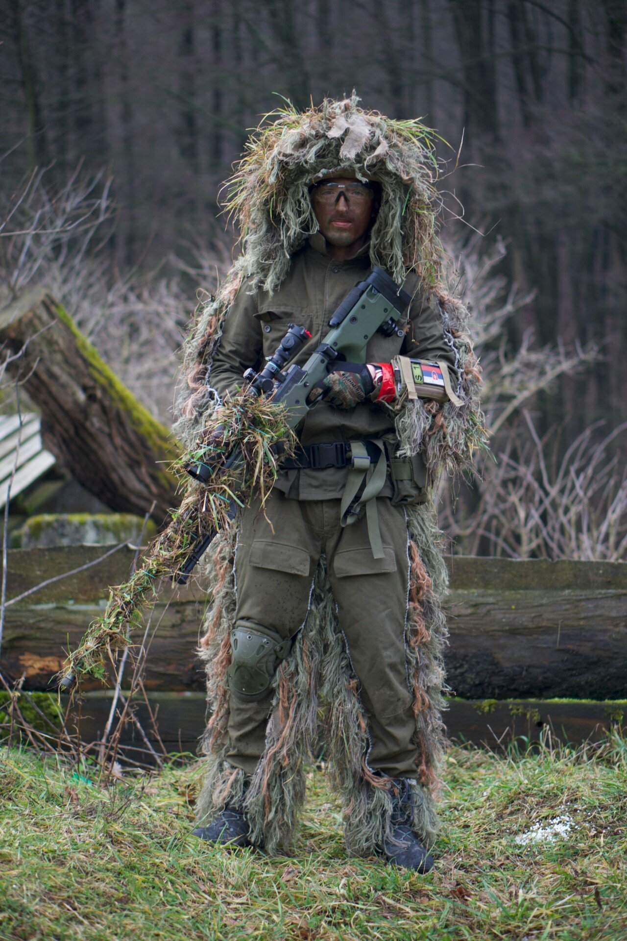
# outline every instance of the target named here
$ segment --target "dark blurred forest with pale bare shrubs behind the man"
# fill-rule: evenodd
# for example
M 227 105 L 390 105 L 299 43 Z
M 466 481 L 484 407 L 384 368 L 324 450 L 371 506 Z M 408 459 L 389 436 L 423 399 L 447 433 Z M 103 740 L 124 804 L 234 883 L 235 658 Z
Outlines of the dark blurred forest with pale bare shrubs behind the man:
M 2 8 L 9 293 L 56 279 L 92 342 L 167 419 L 196 293 L 231 257 L 218 194 L 249 129 L 280 96 L 306 106 L 353 88 L 368 108 L 421 116 L 450 145 L 438 145 L 443 237 L 478 317 L 497 432 L 498 470 L 479 469 L 471 495 L 446 502 L 448 528 L 470 551 L 623 557 L 623 0 Z

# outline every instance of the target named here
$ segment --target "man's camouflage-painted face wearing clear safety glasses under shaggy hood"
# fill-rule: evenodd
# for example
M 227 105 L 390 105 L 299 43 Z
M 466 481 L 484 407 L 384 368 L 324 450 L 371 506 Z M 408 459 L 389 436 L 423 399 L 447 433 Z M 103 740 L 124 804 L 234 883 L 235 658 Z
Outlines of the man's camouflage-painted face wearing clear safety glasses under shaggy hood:
M 336 247 L 362 240 L 378 209 L 372 189 L 347 177 L 332 177 L 314 186 L 311 205 L 322 235 Z

